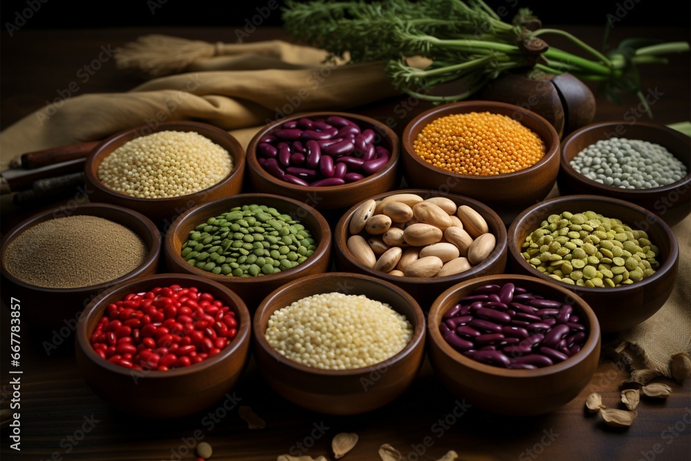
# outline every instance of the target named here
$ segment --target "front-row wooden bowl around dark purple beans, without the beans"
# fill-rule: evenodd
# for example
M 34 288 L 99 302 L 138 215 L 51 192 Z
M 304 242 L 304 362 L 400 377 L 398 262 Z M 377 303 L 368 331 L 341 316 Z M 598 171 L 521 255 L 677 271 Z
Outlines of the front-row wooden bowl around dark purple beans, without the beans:
M 442 316 L 483 285 L 515 283 L 547 299 L 574 306 L 587 328 L 583 348 L 565 361 L 535 370 L 510 370 L 482 364 L 449 346 L 439 332 Z M 468 404 L 492 413 L 533 416 L 555 411 L 583 391 L 600 360 L 600 328 L 589 305 L 559 285 L 531 276 L 495 274 L 458 283 L 442 293 L 428 315 L 428 357 L 439 380 Z

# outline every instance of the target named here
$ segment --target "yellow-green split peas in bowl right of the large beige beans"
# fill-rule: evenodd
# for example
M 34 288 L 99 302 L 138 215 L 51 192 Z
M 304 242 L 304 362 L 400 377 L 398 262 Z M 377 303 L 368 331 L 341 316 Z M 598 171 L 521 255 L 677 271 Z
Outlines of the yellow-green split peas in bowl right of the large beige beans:
M 591 288 L 641 281 L 659 267 L 659 249 L 646 232 L 594 211 L 549 216 L 522 250 L 526 261 L 552 279 Z

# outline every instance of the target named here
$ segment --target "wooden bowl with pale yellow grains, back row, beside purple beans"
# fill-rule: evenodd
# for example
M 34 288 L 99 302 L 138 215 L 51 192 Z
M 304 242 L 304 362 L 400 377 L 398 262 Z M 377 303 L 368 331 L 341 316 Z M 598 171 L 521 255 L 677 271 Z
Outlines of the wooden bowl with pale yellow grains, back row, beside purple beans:
M 162 230 L 188 209 L 239 194 L 245 150 L 200 122 L 138 126 L 99 144 L 85 165 L 89 200 L 136 209 Z

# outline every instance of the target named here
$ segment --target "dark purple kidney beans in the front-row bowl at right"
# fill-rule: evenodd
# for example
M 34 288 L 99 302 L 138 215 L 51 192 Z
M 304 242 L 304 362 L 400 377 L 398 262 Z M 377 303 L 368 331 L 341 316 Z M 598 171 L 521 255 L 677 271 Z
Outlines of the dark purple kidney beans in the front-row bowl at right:
M 484 285 L 460 299 L 444 312 L 439 332 L 466 357 L 524 370 L 565 361 L 587 339 L 572 305 L 510 282 Z

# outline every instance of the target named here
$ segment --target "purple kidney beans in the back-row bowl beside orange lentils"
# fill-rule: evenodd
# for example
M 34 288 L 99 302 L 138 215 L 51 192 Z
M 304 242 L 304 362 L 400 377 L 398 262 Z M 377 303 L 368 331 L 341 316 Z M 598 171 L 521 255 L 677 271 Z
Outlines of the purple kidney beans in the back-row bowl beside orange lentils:
M 281 124 L 259 140 L 257 161 L 272 176 L 294 185 L 337 186 L 371 176 L 391 153 L 377 133 L 332 115 L 301 117 Z

